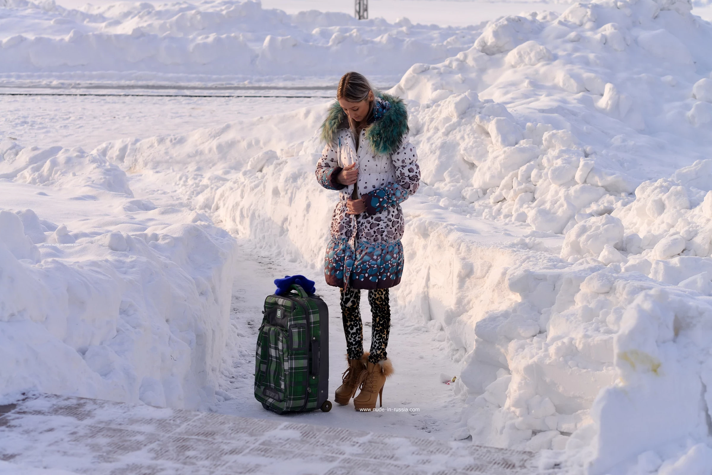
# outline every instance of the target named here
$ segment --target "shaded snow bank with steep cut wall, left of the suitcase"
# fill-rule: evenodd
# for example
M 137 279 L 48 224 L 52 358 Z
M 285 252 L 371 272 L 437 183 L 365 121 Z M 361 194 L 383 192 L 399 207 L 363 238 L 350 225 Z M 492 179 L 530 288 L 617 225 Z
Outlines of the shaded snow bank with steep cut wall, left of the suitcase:
M 234 239 L 132 199 L 125 172 L 81 149 L 3 142 L 0 194 L 2 395 L 212 399 Z

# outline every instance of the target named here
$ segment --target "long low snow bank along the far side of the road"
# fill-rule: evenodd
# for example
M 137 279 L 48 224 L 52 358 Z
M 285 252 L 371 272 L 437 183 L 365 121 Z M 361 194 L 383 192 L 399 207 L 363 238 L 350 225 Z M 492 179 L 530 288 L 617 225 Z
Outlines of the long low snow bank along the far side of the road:
M 6 79 L 112 72 L 101 78 L 117 80 L 142 71 L 155 73 L 155 79 L 184 74 L 263 82 L 265 76 L 307 76 L 330 84 L 356 68 L 394 83 L 413 63 L 442 61 L 470 48 L 479 34 L 476 28 L 412 25 L 407 19 L 389 24 L 319 11 L 288 15 L 262 9 L 258 1 L 122 2 L 78 11 L 53 2 L 5 0 L 0 11 L 6 15 L 0 19 Z

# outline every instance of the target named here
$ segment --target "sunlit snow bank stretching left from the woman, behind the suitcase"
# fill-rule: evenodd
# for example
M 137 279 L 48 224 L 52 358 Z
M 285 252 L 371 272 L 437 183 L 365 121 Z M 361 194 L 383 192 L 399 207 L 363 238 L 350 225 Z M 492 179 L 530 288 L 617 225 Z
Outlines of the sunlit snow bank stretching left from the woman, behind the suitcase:
M 137 189 L 177 183 L 176 199 L 211 214 L 231 234 L 276 259 L 305 258 L 315 266 L 323 259 L 335 204 L 313 175 L 322 148 L 313 132 L 326 106 L 187 135 L 117 140 L 94 152 L 139 172 Z

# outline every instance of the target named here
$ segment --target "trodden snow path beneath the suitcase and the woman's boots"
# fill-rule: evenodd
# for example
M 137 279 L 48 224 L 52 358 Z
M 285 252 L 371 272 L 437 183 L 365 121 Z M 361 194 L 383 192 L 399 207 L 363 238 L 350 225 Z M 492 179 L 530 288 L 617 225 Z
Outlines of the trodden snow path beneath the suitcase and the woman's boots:
M 286 275 L 303 273 L 314 279 L 317 293 L 329 306 L 329 363 L 330 400 L 341 384 L 341 373 L 346 369 L 346 343 L 341 323 L 339 291 L 327 286 L 319 271 L 298 263 L 276 262 L 260 257 L 246 247 L 238 256 L 234 293 L 231 308 L 233 332 L 228 341 L 231 361 L 224 365 L 224 387 L 217 392 L 219 402 L 213 409 L 224 414 L 284 420 L 268 412 L 253 395 L 255 344 L 257 330 L 262 321 L 264 298 L 273 293 L 273 280 Z M 409 437 L 451 439 L 456 430 L 462 401 L 453 394 L 453 386 L 441 382 L 441 373 L 447 377 L 459 375 L 458 365 L 447 357 L 444 333 L 431 332 L 408 318 L 393 305 L 388 357 L 393 361 L 394 375 L 383 390 L 383 412 L 370 414 L 356 412 L 353 403 L 333 405 L 328 413 L 320 411 L 294 414 L 290 420 L 329 427 L 388 432 Z M 361 293 L 361 317 L 364 322 L 364 347 L 371 341 L 371 313 L 367 291 Z

